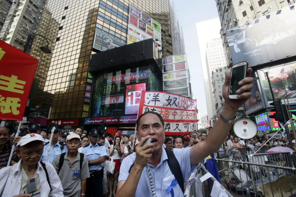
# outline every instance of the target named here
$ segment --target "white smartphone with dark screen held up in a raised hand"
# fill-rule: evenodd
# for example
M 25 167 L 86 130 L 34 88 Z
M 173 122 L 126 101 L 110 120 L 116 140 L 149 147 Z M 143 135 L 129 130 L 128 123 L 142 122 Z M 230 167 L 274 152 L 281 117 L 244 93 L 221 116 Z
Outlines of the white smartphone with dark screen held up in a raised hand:
M 247 76 L 248 62 L 242 61 L 234 64 L 231 68 L 231 80 L 228 97 L 238 99 L 236 91 L 241 87 L 238 83 Z

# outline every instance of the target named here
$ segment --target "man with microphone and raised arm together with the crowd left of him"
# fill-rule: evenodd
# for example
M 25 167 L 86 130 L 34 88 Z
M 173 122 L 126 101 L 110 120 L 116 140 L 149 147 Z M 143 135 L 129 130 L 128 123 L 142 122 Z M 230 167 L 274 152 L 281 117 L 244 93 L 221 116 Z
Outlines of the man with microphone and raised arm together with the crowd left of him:
M 137 119 L 136 136 L 123 137 L 118 133 L 113 140 L 109 134 L 100 136 L 97 129 L 85 134 L 87 140 L 81 139 L 81 128 L 75 128 L 67 135 L 54 126 L 47 134 L 52 140 L 46 142 L 45 133 L 40 135 L 40 127 L 31 125 L 24 128 L 28 135 L 24 132 L 21 138 L 13 139 L 16 149 L 11 163 L 8 163 L 7 154 L 13 146 L 7 144 L 10 138 L 8 130 L 0 128 L 0 157 L 4 158 L 0 163 L 1 196 L 120 197 L 150 196 L 149 193 L 152 196 L 183 196 L 184 183 L 191 171 L 219 149 L 235 121 L 237 110 L 251 97 L 251 73 L 249 68 L 248 77 L 238 83 L 240 88 L 236 100 L 227 96 L 230 74 L 225 73 L 224 107 L 208 135 L 191 133 L 174 139 L 168 136 L 166 140 L 163 117 L 152 111 Z M 146 143 L 148 140 L 151 142 Z M 109 174 L 107 181 L 104 169 L 109 157 L 115 161 L 115 166 L 113 172 L 108 168 L 112 175 Z

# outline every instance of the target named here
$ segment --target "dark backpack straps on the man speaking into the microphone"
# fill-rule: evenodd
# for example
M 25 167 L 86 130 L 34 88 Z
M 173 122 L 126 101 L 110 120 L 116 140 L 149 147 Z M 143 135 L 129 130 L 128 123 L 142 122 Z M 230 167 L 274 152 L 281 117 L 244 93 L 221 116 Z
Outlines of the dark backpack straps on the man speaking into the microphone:
M 183 178 L 183 174 L 182 174 L 182 171 L 181 171 L 181 167 L 179 165 L 179 162 L 175 156 L 175 154 L 173 153 L 173 151 L 171 150 L 168 150 L 165 148 L 165 152 L 168 156 L 168 167 L 170 168 L 170 171 L 172 172 L 172 174 L 175 176 L 177 182 L 178 182 L 178 185 L 180 186 L 183 194 L 184 194 L 184 178 Z M 128 170 L 128 173 L 131 172 L 131 168 L 133 167 L 135 163 L 133 163 L 130 167 L 130 169 Z

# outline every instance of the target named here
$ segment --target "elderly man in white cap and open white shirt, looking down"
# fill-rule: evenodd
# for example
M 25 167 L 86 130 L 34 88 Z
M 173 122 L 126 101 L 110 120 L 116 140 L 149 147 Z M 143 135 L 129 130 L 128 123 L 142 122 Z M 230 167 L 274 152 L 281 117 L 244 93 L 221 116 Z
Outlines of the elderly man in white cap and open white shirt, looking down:
M 39 162 L 43 153 L 43 143 L 43 137 L 36 133 L 20 139 L 16 149 L 20 161 L 0 170 L 2 196 L 64 196 L 61 181 L 54 167 L 49 162 Z

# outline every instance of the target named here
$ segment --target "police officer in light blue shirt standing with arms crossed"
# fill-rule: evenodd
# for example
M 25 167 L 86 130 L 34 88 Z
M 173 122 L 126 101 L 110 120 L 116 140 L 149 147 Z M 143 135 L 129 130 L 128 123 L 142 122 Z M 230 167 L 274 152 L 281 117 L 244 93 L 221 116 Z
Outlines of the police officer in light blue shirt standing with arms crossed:
M 103 144 L 97 144 L 99 138 L 99 130 L 91 129 L 89 131 L 90 143 L 83 147 L 81 153 L 85 154 L 89 165 L 90 177 L 86 179 L 86 197 L 87 196 L 103 196 L 103 167 L 107 152 Z

